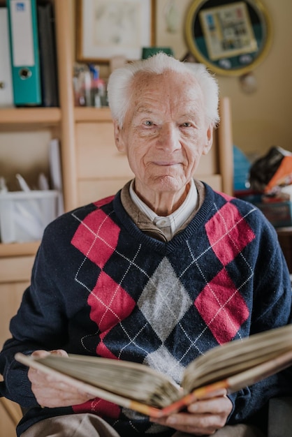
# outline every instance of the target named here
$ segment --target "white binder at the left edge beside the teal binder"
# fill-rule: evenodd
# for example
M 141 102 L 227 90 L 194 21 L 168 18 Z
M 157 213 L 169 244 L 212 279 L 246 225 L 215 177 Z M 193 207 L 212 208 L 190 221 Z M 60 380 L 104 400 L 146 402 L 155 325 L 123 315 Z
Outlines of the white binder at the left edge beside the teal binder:
M 0 8 L 0 107 L 13 106 L 8 9 Z

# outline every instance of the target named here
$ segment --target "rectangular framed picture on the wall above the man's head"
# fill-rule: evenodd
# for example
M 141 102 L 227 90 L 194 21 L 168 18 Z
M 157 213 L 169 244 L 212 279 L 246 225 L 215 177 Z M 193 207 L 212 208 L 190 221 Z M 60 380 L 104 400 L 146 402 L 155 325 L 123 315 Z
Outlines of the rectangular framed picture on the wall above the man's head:
M 77 61 L 140 59 L 155 43 L 156 0 L 77 0 Z

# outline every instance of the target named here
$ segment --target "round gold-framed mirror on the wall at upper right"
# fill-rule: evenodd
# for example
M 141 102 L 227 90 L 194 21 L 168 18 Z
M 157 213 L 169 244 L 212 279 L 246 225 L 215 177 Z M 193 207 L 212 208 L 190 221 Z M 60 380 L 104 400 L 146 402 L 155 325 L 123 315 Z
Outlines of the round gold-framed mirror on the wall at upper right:
M 219 75 L 240 76 L 268 54 L 272 23 L 261 0 L 195 0 L 185 36 L 196 61 Z

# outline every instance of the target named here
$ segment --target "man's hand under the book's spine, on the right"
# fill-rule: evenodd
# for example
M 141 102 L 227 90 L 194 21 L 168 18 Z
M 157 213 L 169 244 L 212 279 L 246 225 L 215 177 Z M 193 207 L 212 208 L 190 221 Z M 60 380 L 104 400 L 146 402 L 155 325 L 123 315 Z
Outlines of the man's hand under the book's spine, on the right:
M 232 403 L 226 396 L 226 391 L 218 390 L 212 394 L 212 397 L 205 397 L 191 403 L 187 412 L 161 419 L 150 417 L 150 420 L 195 436 L 210 436 L 217 429 L 224 427 L 231 410 Z

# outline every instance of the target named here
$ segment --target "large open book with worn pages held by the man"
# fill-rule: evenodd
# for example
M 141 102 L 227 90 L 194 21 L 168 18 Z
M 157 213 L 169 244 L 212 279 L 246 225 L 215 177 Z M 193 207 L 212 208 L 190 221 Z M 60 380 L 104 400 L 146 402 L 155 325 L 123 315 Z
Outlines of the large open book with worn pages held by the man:
M 15 359 L 145 415 L 162 417 L 182 410 L 219 388 L 236 392 L 292 364 L 292 325 L 225 343 L 196 358 L 184 370 L 182 387 L 149 366 L 102 357 L 48 355 Z

